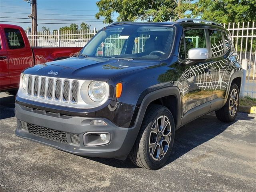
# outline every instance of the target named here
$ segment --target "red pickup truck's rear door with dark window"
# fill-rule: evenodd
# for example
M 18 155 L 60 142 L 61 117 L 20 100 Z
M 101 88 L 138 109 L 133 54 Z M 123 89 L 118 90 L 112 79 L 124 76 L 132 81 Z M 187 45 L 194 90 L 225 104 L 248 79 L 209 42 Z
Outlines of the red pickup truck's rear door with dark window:
M 20 72 L 33 65 L 33 54 L 24 31 L 20 28 L 3 28 L 8 52 L 10 88 L 20 82 Z

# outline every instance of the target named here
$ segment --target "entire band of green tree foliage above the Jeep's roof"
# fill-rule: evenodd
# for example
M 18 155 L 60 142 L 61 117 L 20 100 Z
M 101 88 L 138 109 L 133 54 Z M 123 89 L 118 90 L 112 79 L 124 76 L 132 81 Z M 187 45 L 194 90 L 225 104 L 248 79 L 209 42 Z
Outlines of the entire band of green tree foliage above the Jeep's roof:
M 117 21 L 163 22 L 177 18 L 202 18 L 220 23 L 252 22 L 256 20 L 256 0 L 99 0 L 99 12 L 104 23 Z

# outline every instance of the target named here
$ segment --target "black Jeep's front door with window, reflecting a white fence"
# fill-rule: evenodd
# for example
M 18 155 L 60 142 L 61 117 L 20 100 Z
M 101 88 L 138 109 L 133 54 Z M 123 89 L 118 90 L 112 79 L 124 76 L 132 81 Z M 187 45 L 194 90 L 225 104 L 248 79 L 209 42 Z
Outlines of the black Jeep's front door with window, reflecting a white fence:
M 212 96 L 212 62 L 210 59 L 202 62 L 188 62 L 188 50 L 191 48 L 208 48 L 206 31 L 204 28 L 188 29 L 184 31 L 184 72 L 179 78 L 182 89 L 183 115 L 189 110 L 200 106 Z

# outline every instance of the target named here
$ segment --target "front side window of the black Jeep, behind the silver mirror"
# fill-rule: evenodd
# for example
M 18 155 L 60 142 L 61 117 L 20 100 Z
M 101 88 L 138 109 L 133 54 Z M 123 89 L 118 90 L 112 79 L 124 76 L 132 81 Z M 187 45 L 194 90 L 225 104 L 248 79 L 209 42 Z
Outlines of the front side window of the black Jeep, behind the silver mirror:
M 190 29 L 184 31 L 186 54 L 192 48 L 206 48 L 206 35 L 204 29 Z M 187 58 L 187 56 L 186 56 Z

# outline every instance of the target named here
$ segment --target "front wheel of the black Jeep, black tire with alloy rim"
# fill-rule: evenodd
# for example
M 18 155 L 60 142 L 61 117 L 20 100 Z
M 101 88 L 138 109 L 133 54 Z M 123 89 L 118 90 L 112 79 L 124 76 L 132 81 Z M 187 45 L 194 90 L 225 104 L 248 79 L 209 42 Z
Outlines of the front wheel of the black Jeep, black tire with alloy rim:
M 162 120 L 163 124 L 161 123 L 161 125 L 164 128 L 161 129 L 160 126 L 159 129 L 161 131 L 159 132 L 158 124 Z M 154 133 L 155 131 L 157 133 Z M 129 154 L 130 159 L 134 164 L 142 168 L 151 170 L 161 168 L 172 151 L 174 132 L 174 119 L 170 110 L 165 106 L 152 105 L 146 112 L 140 132 Z M 154 141 L 156 141 L 155 144 Z

